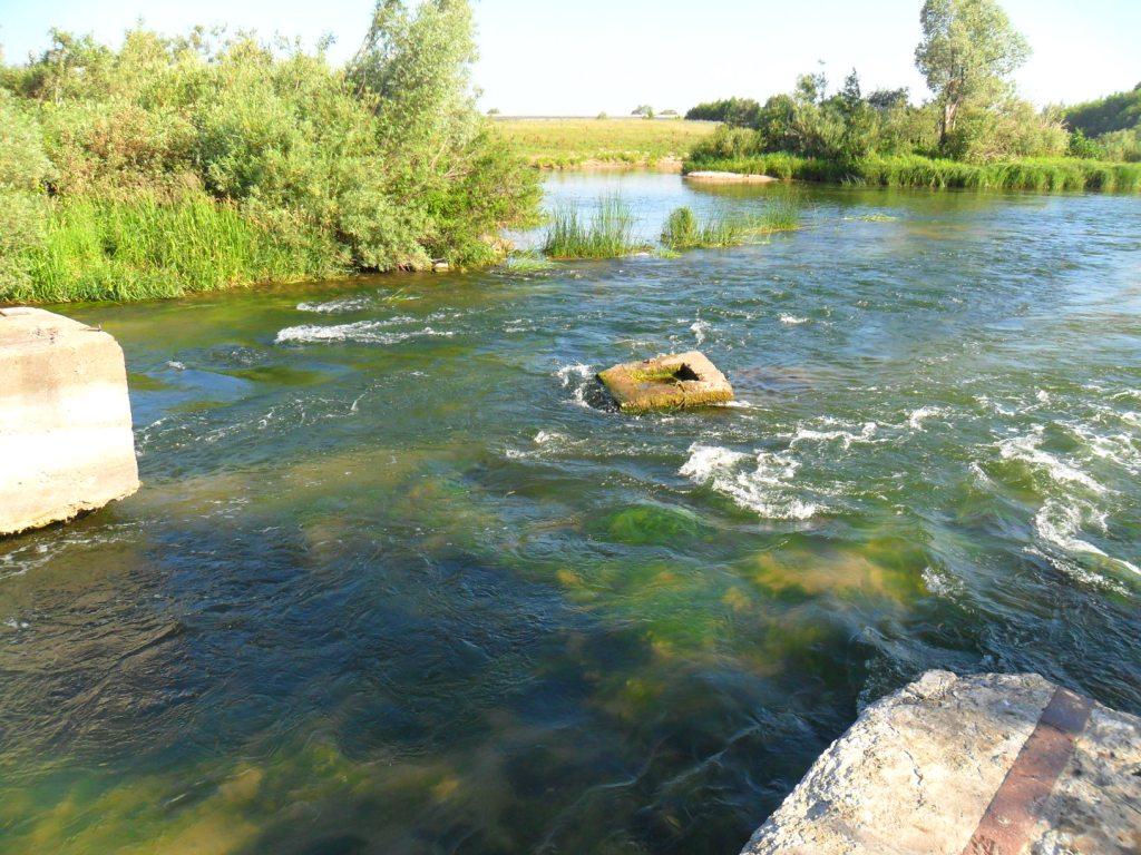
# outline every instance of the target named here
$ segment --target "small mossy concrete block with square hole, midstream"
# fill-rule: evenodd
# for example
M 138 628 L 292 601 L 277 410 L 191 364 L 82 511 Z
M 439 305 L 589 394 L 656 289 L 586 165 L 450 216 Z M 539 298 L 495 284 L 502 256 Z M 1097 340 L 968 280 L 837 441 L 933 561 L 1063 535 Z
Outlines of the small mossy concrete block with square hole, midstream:
M 598 375 L 624 413 L 705 407 L 733 400 L 733 386 L 696 350 L 626 363 Z

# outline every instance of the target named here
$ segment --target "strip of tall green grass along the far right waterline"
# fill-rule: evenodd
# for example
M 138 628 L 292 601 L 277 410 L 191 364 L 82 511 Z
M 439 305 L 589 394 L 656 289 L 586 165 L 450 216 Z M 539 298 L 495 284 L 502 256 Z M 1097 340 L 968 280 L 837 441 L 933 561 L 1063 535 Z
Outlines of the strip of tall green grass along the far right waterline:
M 737 158 L 690 157 L 686 161 L 683 171 L 695 170 L 881 187 L 1010 189 L 1043 193 L 1141 192 L 1141 164 L 1106 163 L 1077 157 L 1028 157 L 993 163 L 964 163 L 919 155 L 899 155 L 839 162 L 776 153 Z

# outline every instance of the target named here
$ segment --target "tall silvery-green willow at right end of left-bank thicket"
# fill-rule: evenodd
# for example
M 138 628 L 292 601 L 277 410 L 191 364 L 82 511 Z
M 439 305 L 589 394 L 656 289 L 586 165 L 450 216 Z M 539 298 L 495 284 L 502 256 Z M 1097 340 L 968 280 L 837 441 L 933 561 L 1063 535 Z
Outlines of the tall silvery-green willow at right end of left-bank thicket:
M 476 109 L 471 65 L 476 39 L 468 0 L 377 0 L 348 79 L 375 116 L 387 195 L 397 202 L 397 231 L 416 235 L 430 258 L 492 260 L 499 231 L 537 209 L 539 179 Z M 414 203 L 413 203 L 414 201 Z M 356 219 L 381 234 L 391 226 Z M 379 239 L 379 238 L 378 238 Z

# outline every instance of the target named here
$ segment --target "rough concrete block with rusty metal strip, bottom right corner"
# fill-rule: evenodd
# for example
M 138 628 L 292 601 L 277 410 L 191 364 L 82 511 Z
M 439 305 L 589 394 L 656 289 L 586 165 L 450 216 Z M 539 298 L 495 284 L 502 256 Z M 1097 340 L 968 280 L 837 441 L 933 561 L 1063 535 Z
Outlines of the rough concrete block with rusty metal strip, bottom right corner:
M 744 855 L 1136 855 L 1141 719 L 1037 675 L 929 671 L 868 707 Z

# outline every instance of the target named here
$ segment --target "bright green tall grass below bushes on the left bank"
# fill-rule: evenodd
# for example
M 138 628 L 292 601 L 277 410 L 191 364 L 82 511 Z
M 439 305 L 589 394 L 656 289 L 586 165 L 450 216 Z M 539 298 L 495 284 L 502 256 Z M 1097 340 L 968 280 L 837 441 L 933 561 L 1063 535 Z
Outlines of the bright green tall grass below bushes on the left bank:
M 335 250 L 290 245 L 202 197 L 178 204 L 52 203 L 39 242 L 13 259 L 0 301 L 149 300 L 335 272 Z M 2 260 L 2 259 L 0 259 Z

